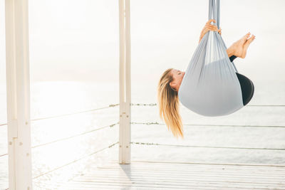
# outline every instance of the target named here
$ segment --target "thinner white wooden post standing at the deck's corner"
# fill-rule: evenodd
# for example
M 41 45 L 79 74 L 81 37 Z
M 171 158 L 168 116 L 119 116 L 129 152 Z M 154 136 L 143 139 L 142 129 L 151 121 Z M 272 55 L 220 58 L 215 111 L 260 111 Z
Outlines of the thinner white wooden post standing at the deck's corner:
M 119 0 L 120 134 L 119 163 L 130 164 L 130 0 Z

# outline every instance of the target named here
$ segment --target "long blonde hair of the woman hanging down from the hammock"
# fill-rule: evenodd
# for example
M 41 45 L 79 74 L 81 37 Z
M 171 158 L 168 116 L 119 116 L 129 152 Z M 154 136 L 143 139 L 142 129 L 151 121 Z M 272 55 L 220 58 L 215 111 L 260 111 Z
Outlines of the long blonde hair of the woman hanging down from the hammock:
M 176 138 L 180 136 L 184 139 L 182 119 L 179 113 L 178 92 L 170 87 L 170 82 L 173 80 L 172 73 L 170 73 L 172 69 L 168 68 L 162 73 L 157 87 L 160 118 L 165 120 L 167 129 L 171 130 Z

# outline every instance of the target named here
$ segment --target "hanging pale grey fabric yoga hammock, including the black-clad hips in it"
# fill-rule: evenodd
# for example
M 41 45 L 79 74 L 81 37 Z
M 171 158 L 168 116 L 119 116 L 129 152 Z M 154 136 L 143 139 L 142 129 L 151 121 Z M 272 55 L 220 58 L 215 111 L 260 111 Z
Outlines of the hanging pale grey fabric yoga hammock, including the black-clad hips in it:
M 209 20 L 219 29 L 219 0 L 209 0 Z M 229 115 L 252 99 L 254 84 L 238 73 L 217 31 L 208 31 L 197 46 L 178 90 L 182 105 L 204 116 Z

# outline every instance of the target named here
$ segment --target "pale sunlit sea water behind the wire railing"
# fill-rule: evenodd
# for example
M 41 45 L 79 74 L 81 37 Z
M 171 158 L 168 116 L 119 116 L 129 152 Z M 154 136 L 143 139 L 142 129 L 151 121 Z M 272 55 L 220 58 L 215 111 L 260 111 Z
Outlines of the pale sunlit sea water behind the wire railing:
M 133 105 L 131 122 L 158 122 L 161 125 L 132 125 L 131 141 L 142 144 L 132 144 L 131 159 L 284 165 L 285 106 L 269 106 L 285 105 L 284 81 L 272 83 L 266 80 L 254 80 L 254 84 L 255 93 L 249 106 L 232 115 L 203 117 L 181 105 L 180 113 L 185 124 L 184 140 L 172 137 L 171 132 L 159 118 L 157 106 Z M 0 89 L 0 101 L 3 105 L 0 124 L 3 124 L 6 123 L 6 106 L 4 106 L 6 105 L 6 85 L 1 85 Z M 32 163 L 33 177 L 36 177 L 33 179 L 34 189 L 56 189 L 59 186 L 58 181 L 68 181 L 88 169 L 90 164 L 118 160 L 118 144 L 93 154 L 118 142 L 118 125 L 96 130 L 119 121 L 118 106 L 53 117 L 92 110 L 118 102 L 118 83 L 98 84 L 78 81 L 31 83 L 31 120 L 34 120 L 31 122 Z M 133 81 L 132 102 L 156 103 L 156 86 Z M 52 118 L 35 120 L 43 117 Z M 237 125 L 237 127 L 231 125 Z M 58 139 L 63 140 L 58 141 Z M 37 147 L 40 144 L 43 145 Z M 175 147 L 167 144 L 190 147 Z M 0 126 L 0 155 L 6 153 L 7 126 L 4 125 Z M 7 156 L 0 157 L 0 189 L 8 187 L 7 158 Z M 77 159 L 80 160 L 74 162 Z M 68 164 L 71 162 L 73 163 Z M 65 164 L 68 165 L 64 166 Z M 52 169 L 56 170 L 45 174 Z

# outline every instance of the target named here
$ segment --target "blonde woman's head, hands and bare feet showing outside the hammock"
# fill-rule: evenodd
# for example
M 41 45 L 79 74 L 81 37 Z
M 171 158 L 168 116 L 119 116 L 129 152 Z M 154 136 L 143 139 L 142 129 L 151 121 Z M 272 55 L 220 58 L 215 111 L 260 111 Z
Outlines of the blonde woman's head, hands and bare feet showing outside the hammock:
M 221 33 L 222 29 L 218 29 L 217 26 L 210 24 L 211 22 L 216 22 L 214 19 L 207 21 L 206 25 L 202 29 L 199 42 L 202 40 L 205 33 L 208 31 L 218 31 Z M 249 38 L 250 33 L 247 33 L 243 36 L 239 41 L 236 41 L 227 49 L 227 55 L 229 56 L 229 60 L 232 62 L 234 58 L 245 58 L 247 54 L 247 48 L 249 44 L 252 43 L 255 36 L 252 35 Z M 179 113 L 179 99 L 178 99 L 178 90 L 180 88 L 180 84 L 182 83 L 182 79 L 185 75 L 185 72 L 181 70 L 177 70 L 174 68 L 169 68 L 162 73 L 158 87 L 157 87 L 157 99 L 160 110 L 160 118 L 165 120 L 165 124 L 167 125 L 167 129 L 171 130 L 172 134 L 175 137 L 182 137 L 183 135 L 183 125 L 182 119 Z

